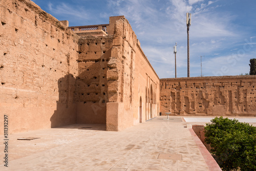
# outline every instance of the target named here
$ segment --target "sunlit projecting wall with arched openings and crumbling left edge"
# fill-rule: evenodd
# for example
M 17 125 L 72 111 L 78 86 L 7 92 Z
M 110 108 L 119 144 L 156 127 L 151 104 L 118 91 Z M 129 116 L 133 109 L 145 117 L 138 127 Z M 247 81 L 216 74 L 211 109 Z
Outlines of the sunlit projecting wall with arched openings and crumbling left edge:
M 125 18 L 115 22 L 107 80 L 108 131 L 123 130 L 158 115 L 159 78 Z M 151 91 L 151 96 L 146 95 L 148 91 Z

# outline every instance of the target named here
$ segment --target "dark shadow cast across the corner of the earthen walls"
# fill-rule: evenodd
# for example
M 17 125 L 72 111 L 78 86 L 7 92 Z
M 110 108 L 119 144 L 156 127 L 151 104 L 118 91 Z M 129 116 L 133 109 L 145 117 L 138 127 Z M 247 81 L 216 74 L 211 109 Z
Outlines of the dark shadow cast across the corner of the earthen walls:
M 106 68 L 98 59 L 79 62 L 79 70 L 76 78 L 68 74 L 58 80 L 59 100 L 50 119 L 51 127 L 106 124 Z

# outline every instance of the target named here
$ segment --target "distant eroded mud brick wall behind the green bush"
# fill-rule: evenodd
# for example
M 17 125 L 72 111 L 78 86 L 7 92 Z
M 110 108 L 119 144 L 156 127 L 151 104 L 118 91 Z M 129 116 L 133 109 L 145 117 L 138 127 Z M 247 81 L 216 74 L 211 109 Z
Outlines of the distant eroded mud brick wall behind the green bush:
M 255 116 L 256 76 L 164 78 L 160 112 L 176 115 Z

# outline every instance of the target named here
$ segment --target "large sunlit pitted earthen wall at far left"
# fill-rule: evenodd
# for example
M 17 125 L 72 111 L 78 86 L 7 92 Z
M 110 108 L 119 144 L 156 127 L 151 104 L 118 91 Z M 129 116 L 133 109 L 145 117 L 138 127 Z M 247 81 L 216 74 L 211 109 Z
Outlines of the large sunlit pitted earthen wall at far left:
M 9 133 L 75 123 L 78 36 L 31 1 L 0 9 L 0 127 L 4 114 Z

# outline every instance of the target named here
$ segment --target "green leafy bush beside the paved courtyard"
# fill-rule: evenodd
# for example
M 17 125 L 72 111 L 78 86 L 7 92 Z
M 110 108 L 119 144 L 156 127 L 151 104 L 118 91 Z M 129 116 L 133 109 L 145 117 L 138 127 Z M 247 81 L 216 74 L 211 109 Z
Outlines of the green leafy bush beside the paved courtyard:
M 223 170 L 256 170 L 256 127 L 216 117 L 205 126 L 205 142 Z

